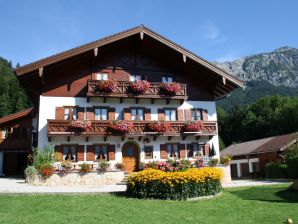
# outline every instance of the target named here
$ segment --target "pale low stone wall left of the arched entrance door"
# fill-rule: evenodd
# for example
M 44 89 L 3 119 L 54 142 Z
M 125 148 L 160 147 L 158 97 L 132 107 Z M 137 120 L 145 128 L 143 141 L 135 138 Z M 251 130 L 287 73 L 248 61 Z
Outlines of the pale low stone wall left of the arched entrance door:
M 105 173 L 93 171 L 85 175 L 81 175 L 78 172 L 70 172 L 63 177 L 54 173 L 47 179 L 42 179 L 39 176 L 35 177 L 35 179 L 26 178 L 26 182 L 38 186 L 100 186 L 119 183 L 123 178 L 123 171 L 108 171 Z

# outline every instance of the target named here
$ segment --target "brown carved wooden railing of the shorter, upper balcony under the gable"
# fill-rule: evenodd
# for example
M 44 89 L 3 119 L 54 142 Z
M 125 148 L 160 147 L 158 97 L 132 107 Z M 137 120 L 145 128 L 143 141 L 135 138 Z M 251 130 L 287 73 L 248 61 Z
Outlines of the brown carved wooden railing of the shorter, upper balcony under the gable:
M 187 99 L 186 84 L 180 84 L 181 90 L 177 92 L 174 96 L 168 96 L 161 94 L 160 82 L 150 83 L 150 88 L 143 94 L 133 95 L 129 91 L 130 84 L 132 82 L 118 81 L 117 87 L 112 93 L 105 94 L 97 91 L 97 84 L 99 80 L 88 80 L 88 92 L 87 96 L 103 96 L 103 97 L 138 97 L 138 98 L 171 98 L 171 99 Z

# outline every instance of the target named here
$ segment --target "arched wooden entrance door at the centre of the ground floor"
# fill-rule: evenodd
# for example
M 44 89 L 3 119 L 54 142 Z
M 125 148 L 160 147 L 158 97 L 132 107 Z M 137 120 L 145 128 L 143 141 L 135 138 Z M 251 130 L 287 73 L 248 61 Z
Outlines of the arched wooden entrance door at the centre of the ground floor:
M 134 143 L 126 143 L 122 148 L 122 161 L 126 172 L 134 172 L 139 167 L 138 146 Z

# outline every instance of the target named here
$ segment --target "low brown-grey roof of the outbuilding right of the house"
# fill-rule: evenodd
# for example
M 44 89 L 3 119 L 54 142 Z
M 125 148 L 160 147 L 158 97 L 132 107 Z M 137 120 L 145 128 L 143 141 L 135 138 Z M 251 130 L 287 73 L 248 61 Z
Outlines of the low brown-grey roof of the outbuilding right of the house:
M 251 154 L 259 154 L 265 152 L 284 151 L 289 146 L 297 142 L 298 132 L 287 135 L 279 135 L 269 138 L 233 144 L 223 149 L 221 155 L 243 156 Z

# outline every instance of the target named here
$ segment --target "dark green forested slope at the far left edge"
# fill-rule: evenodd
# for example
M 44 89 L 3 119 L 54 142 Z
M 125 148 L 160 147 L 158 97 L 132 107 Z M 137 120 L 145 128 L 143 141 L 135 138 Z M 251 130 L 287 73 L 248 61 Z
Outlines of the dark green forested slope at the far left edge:
M 11 62 L 0 57 L 0 117 L 30 107 L 30 101 L 13 74 Z

